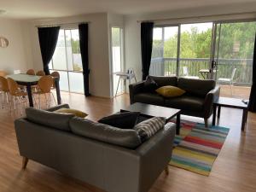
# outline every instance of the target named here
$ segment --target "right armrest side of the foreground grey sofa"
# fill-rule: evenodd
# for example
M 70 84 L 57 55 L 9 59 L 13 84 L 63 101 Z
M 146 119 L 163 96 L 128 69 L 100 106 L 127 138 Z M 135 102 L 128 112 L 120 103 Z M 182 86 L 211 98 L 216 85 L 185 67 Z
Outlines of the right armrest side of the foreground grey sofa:
M 136 149 L 140 156 L 140 189 L 145 192 L 150 189 L 160 173 L 168 166 L 172 158 L 172 148 L 176 133 L 176 125 L 168 123 L 154 137 Z

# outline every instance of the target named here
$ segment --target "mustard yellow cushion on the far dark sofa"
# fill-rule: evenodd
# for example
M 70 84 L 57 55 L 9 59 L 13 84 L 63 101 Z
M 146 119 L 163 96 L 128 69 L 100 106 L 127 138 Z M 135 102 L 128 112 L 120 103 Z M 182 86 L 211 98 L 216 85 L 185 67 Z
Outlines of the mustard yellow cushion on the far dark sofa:
M 155 91 L 158 92 L 161 96 L 165 97 L 182 96 L 186 92 L 185 90 L 171 85 L 162 86 Z

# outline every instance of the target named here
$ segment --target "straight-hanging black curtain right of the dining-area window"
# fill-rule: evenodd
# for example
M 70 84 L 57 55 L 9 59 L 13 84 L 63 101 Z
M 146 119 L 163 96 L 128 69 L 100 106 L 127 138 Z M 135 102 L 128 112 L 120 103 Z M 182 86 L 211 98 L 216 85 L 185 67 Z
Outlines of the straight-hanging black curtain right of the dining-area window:
M 82 56 L 84 74 L 84 96 L 90 96 L 89 92 L 89 57 L 88 57 L 88 24 L 79 24 L 80 51 Z

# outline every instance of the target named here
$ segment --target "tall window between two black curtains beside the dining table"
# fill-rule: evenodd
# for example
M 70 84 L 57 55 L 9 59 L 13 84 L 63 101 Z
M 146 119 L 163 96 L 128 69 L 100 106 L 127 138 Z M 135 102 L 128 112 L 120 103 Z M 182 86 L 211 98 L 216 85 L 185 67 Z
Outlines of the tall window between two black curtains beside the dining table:
M 60 73 L 60 89 L 84 93 L 78 29 L 61 29 L 49 70 Z

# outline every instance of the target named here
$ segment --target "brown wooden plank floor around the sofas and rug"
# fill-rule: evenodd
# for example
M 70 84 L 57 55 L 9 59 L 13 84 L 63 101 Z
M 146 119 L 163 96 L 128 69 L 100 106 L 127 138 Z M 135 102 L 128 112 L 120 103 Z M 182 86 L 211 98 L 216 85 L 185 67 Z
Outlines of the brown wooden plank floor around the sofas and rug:
M 99 119 L 129 105 L 127 95 L 112 100 L 62 93 L 63 102 Z M 188 118 L 202 122 L 202 119 Z M 46 166 L 29 161 L 25 171 L 17 148 L 14 118 L 0 109 L 0 191 L 1 192 L 100 192 L 86 183 L 62 175 Z M 170 166 L 170 174 L 160 175 L 150 192 L 233 192 L 256 191 L 256 114 L 249 113 L 247 129 L 241 132 L 241 111 L 223 108 L 219 125 L 230 128 L 209 177 Z M 168 147 L 168 146 L 166 146 Z M 154 165 L 152 165 L 154 166 Z M 120 176 L 121 177 L 121 176 Z M 117 181 L 118 182 L 118 181 Z M 120 191 L 121 192 L 121 191 Z

